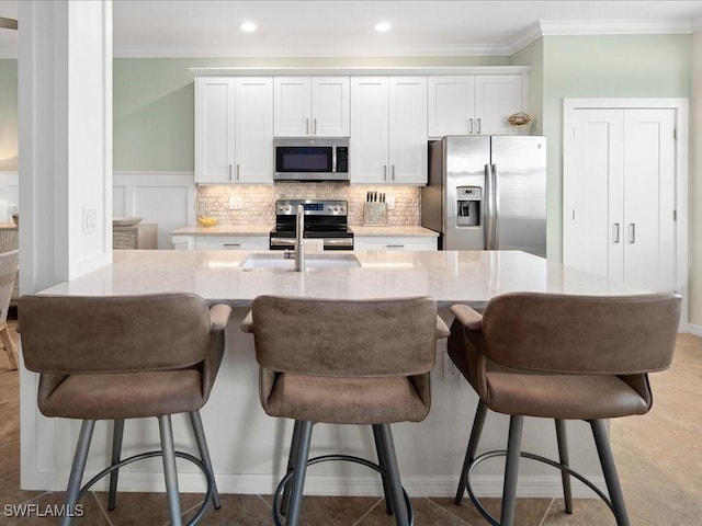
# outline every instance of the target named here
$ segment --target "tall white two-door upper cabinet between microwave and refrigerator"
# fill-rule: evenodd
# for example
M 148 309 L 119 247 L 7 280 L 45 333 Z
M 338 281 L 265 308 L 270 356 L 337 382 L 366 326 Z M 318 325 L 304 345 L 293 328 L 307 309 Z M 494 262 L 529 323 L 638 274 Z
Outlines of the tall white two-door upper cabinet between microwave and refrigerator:
M 427 78 L 351 78 L 352 183 L 427 184 Z

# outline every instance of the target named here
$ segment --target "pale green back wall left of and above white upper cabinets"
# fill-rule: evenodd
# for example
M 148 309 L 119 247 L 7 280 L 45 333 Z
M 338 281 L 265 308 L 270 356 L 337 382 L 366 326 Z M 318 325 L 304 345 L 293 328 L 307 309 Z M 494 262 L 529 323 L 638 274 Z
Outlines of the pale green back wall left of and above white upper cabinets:
M 114 170 L 194 170 L 194 84 L 189 68 L 506 66 L 509 57 L 116 58 Z

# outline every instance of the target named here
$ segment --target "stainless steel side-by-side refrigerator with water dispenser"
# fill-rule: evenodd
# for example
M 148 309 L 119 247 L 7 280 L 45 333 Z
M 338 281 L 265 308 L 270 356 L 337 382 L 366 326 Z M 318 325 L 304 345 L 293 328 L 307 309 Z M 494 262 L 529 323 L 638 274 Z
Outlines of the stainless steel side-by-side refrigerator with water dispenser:
M 546 138 L 448 136 L 429 142 L 421 225 L 443 250 L 546 256 Z

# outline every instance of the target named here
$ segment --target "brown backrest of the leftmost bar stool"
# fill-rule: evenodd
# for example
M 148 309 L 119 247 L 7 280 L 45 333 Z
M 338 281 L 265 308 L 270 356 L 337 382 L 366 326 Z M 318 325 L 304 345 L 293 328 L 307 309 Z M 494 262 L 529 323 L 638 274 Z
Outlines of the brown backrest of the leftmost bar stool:
M 18 315 L 24 364 L 37 373 L 185 368 L 211 345 L 207 301 L 194 294 L 25 295 Z

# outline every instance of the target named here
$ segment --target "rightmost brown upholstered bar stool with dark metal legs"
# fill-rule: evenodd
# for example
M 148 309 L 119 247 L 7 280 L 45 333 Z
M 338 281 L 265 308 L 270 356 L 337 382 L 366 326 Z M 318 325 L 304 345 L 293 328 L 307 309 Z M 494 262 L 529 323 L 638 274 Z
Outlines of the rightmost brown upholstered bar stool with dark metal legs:
M 521 456 L 561 469 L 566 512 L 573 513 L 570 477 L 575 477 L 609 505 L 619 526 L 629 525 L 605 420 L 650 409 L 647 374 L 670 365 L 680 297 L 517 293 L 490 300 L 483 316 L 464 305 L 451 311 L 455 321 L 449 354 L 479 396 L 456 504 L 467 488 L 490 524 L 511 526 Z M 476 457 L 488 409 L 510 415 L 508 447 Z M 558 461 L 521 451 L 524 416 L 555 420 Z M 609 499 L 568 466 L 567 420 L 590 423 Z M 500 523 L 475 498 L 469 483 L 475 466 L 499 455 L 507 456 Z

